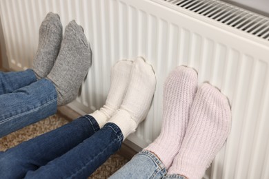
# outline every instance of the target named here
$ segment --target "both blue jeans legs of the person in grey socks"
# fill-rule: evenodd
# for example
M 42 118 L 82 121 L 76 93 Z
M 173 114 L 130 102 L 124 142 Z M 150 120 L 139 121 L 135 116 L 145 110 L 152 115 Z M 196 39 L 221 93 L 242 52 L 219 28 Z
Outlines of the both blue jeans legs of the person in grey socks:
M 32 70 L 0 72 L 0 138 L 57 112 L 51 81 L 37 81 Z

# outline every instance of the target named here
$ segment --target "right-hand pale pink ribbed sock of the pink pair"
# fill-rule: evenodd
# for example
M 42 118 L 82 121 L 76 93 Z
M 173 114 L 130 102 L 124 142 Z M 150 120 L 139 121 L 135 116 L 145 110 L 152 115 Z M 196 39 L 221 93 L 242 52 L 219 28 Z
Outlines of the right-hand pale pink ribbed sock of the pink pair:
M 228 99 L 217 88 L 204 83 L 192 103 L 186 134 L 168 174 L 202 178 L 225 143 L 230 127 Z

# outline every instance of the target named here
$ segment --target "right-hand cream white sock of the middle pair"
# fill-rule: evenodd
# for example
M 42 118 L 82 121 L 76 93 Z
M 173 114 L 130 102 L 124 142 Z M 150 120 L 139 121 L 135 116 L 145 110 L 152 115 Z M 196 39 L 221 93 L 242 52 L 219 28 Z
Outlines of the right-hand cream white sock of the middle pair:
M 141 57 L 132 65 L 130 84 L 120 109 L 109 122 L 115 123 L 125 139 L 146 118 L 156 87 L 155 73 Z M 124 140 L 123 139 L 123 140 Z

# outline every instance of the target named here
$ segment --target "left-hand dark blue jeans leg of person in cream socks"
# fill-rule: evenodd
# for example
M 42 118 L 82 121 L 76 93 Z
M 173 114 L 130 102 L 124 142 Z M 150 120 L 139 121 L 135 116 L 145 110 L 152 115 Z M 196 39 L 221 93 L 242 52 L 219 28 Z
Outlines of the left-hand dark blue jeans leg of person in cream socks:
M 34 171 L 66 154 L 98 130 L 97 121 L 86 115 L 8 149 L 0 154 L 1 178 L 23 178 L 27 171 Z

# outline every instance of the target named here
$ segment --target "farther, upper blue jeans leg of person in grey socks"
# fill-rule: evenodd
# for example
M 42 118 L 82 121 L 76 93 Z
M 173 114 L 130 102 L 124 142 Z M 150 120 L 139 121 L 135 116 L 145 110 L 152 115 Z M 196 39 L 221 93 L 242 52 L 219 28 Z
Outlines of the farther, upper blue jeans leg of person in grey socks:
M 25 87 L 37 81 L 32 70 L 23 72 L 0 72 L 0 95 L 12 93 L 16 89 Z

